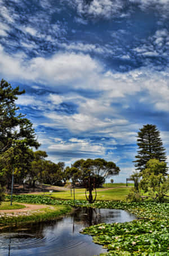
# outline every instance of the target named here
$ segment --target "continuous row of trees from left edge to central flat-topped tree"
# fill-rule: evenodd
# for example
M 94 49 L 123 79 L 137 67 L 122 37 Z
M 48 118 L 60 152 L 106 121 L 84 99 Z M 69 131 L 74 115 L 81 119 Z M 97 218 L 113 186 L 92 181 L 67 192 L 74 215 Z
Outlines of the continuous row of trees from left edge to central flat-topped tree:
M 68 179 L 79 182 L 91 192 L 104 183 L 105 178 L 119 173 L 113 162 L 104 159 L 78 160 L 72 167 L 63 162 L 46 160 L 47 153 L 40 146 L 33 124 L 19 113 L 15 101 L 25 93 L 19 86 L 12 88 L 5 80 L 0 83 L 0 201 L 4 187 L 11 188 L 12 172 L 15 184 L 26 182 L 34 187 L 40 184 L 62 185 Z M 33 151 L 35 148 L 37 151 Z M 90 184 L 90 185 L 89 185 Z

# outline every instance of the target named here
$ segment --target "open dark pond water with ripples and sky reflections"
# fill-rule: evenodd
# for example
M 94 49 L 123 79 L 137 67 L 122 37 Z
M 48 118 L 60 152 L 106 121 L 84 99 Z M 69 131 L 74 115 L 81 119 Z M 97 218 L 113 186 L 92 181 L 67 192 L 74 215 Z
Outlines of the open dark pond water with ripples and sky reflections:
M 92 256 L 106 250 L 81 234 L 84 227 L 98 223 L 125 222 L 135 216 L 114 209 L 79 208 L 56 221 L 24 225 L 17 230 L 0 233 L 2 256 Z

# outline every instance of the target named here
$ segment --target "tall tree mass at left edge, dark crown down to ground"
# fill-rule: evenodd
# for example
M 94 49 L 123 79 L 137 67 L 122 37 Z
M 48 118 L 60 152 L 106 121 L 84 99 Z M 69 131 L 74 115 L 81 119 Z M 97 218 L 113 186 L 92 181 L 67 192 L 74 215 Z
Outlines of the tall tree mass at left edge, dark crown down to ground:
M 19 107 L 15 101 L 17 96 L 25 91 L 19 91 L 19 87 L 12 88 L 5 80 L 0 83 L 0 159 L 1 186 L 8 183 L 12 169 L 15 168 L 15 176 L 25 176 L 26 170 L 32 161 L 32 151 L 29 147 L 38 148 L 32 122 L 19 113 Z M 4 175 L 5 174 L 5 175 Z

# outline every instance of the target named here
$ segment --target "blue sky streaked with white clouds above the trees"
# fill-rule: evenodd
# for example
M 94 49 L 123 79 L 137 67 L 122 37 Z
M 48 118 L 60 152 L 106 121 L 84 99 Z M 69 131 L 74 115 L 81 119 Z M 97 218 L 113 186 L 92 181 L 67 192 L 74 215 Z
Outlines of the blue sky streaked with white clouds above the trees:
M 0 0 L 0 76 L 48 159 L 114 161 L 157 125 L 169 156 L 169 0 Z

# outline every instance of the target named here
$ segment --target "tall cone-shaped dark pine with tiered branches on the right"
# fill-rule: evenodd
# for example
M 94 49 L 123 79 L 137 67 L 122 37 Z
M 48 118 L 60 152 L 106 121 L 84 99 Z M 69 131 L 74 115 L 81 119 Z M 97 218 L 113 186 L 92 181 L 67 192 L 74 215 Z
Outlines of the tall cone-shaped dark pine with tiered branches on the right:
M 137 145 L 139 146 L 139 151 L 134 161 L 136 163 L 136 170 L 142 172 L 150 159 L 166 161 L 166 152 L 160 138 L 160 133 L 155 125 L 144 125 L 140 129 L 137 136 Z M 163 174 L 167 174 L 167 167 Z

